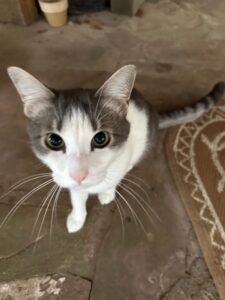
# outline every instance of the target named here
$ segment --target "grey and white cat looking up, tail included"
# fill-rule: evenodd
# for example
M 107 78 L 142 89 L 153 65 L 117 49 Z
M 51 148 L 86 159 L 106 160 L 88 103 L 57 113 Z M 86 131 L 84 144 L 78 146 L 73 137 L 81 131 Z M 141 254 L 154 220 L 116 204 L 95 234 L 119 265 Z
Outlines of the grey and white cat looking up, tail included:
M 134 65 L 119 69 L 98 90 L 59 91 L 20 68 L 8 73 L 24 104 L 34 153 L 55 183 L 70 191 L 69 232 L 82 228 L 89 194 L 97 194 L 101 204 L 113 201 L 117 185 L 151 149 L 158 128 L 196 119 L 225 90 L 218 83 L 194 105 L 160 115 L 133 90 Z

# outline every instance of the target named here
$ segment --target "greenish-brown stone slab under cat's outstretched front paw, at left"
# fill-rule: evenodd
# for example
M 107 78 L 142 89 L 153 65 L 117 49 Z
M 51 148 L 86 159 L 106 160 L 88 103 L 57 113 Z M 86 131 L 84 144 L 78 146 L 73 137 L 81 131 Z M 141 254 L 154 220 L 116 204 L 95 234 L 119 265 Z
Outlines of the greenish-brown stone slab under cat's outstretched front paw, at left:
M 63 200 L 63 199 L 61 199 Z M 92 279 L 101 241 L 112 217 L 112 207 L 102 207 L 90 200 L 88 218 L 83 229 L 76 234 L 66 230 L 66 217 L 70 207 L 60 206 L 50 232 L 52 210 L 49 209 L 39 233 L 44 216 L 33 232 L 37 207 L 23 206 L 0 228 L 0 281 L 29 278 L 51 273 L 71 272 Z M 0 219 L 10 206 L 0 205 Z M 37 242 L 35 242 L 37 241 Z

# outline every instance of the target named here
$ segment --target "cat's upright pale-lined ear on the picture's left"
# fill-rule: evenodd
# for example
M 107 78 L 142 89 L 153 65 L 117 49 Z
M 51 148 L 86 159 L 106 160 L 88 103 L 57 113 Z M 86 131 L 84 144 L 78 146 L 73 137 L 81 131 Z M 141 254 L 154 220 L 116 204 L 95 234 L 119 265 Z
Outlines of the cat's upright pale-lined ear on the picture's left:
M 51 99 L 55 95 L 40 81 L 18 67 L 9 67 L 7 71 L 23 101 L 24 113 L 28 118 L 38 117 L 51 106 Z

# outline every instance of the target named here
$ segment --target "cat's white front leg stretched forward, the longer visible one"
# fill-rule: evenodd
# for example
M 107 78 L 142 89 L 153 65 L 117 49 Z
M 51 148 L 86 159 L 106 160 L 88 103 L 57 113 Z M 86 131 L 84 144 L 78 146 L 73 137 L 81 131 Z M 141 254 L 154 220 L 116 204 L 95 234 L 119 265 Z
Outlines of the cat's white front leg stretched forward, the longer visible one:
M 67 217 L 67 230 L 69 233 L 80 230 L 87 216 L 86 202 L 88 193 L 70 190 L 72 211 Z

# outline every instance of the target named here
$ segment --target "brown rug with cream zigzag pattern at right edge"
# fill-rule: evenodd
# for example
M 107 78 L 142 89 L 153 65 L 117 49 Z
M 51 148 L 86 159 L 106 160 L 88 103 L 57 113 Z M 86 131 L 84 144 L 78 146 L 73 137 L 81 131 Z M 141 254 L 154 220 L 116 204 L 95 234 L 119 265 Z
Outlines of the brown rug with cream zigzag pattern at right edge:
M 170 129 L 167 158 L 221 300 L 225 300 L 225 106 Z

